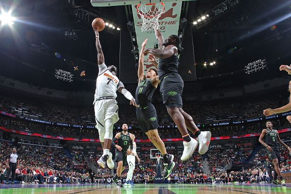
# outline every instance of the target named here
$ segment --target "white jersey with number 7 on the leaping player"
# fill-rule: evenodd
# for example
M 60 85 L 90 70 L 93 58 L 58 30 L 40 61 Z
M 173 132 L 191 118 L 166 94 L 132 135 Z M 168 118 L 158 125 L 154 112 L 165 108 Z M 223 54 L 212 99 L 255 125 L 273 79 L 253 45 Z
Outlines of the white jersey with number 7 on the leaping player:
M 116 91 L 124 87 L 118 77 L 107 70 L 105 63 L 98 65 L 99 73 L 96 80 L 96 90 L 94 102 L 99 97 L 117 97 Z

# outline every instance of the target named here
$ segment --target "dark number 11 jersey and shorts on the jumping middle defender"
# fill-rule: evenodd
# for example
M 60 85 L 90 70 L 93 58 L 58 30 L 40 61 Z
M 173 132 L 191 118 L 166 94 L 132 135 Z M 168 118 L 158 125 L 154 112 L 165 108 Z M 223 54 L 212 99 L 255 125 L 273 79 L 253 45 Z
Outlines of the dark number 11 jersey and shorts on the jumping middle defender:
M 143 79 L 135 92 L 136 116 L 141 129 L 146 133 L 148 130 L 157 129 L 157 112 L 151 102 L 152 95 L 156 88 L 151 84 L 151 79 Z

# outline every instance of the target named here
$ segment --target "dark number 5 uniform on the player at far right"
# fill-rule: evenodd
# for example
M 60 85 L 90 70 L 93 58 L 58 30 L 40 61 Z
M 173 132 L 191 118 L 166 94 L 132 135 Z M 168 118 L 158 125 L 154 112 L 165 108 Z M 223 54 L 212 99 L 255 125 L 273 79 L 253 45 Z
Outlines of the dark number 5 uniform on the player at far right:
M 279 150 L 279 145 L 278 145 L 278 134 L 276 130 L 270 130 L 267 128 L 267 134 L 265 135 L 264 138 L 265 143 L 272 147 L 273 151 L 270 152 L 267 149 L 267 154 L 270 158 L 270 160 L 278 158 L 278 161 L 280 162 L 280 150 Z

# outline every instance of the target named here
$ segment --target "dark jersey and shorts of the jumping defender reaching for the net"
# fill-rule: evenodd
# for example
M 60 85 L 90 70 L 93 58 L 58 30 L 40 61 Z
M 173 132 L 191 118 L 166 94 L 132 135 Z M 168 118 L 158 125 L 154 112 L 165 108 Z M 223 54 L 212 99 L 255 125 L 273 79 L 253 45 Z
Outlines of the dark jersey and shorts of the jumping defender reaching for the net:
M 184 82 L 178 73 L 179 55 L 159 60 L 158 74 L 161 81 L 160 92 L 167 108 L 182 108 Z

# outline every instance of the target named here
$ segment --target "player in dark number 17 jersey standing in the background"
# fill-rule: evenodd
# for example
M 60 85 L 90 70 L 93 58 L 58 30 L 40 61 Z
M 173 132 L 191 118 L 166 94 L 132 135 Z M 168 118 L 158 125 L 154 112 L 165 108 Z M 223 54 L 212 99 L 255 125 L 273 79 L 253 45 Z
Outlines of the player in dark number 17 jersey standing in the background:
M 113 183 L 117 187 L 122 187 L 121 184 L 121 173 L 126 165 L 126 156 L 131 154 L 133 149 L 132 134 L 127 132 L 127 124 L 122 125 L 122 132 L 115 135 L 112 140 L 112 145 L 116 147 L 115 149 L 115 161 L 118 163 L 117 174 L 112 178 Z M 118 141 L 116 144 L 115 142 Z M 130 151 L 127 151 L 130 147 Z M 116 183 L 117 182 L 117 183 Z

